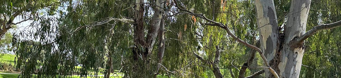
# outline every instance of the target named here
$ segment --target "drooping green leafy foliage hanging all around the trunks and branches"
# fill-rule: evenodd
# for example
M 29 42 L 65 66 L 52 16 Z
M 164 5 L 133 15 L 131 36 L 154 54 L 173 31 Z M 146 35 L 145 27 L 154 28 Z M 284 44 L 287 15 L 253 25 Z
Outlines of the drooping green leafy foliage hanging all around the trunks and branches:
M 154 0 L 145 1 L 155 4 Z M 220 0 L 177 1 L 181 5 L 179 7 L 183 9 L 226 24 L 238 38 L 247 43 L 255 44 L 259 38 L 255 5 L 252 0 L 226 0 L 224 7 Z M 278 24 L 282 25 L 287 18 L 290 0 L 274 0 L 274 2 Z M 147 34 L 156 8 L 151 4 L 145 4 L 144 20 L 146 21 L 143 34 Z M 339 0 L 312 1 L 307 29 L 341 20 L 340 4 Z M 127 24 L 112 20 L 107 24 L 93 26 L 111 18 L 134 19 L 135 0 L 6 0 L 0 2 L 0 5 L 0 14 L 6 17 L 23 9 L 23 16 L 26 14 L 34 20 L 28 26 L 32 30 L 19 31 L 13 36 L 6 33 L 0 41 L 1 51 L 12 51 L 12 48 L 8 47 L 14 46 L 13 51 L 16 53 L 14 62 L 17 63 L 16 67 L 21 69 L 21 78 L 35 76 L 32 74 L 38 74 L 36 77 L 42 78 L 67 78 L 65 75 L 75 72 L 80 75 L 79 77 L 88 77 L 87 75 L 98 77 L 99 73 L 107 72 L 109 59 L 113 60 L 113 69 L 121 70 L 120 72 L 126 77 L 154 77 L 153 73 L 158 65 L 156 50 L 158 43 L 154 45 L 153 52 L 147 60 L 134 60 L 133 50 L 128 48 L 135 44 L 134 23 Z M 174 10 L 176 9 L 174 6 L 170 9 L 179 12 Z M 166 16 L 173 14 L 169 13 Z M 225 30 L 204 25 L 207 21 L 198 17 L 194 22 L 192 17 L 179 14 L 165 18 L 166 49 L 159 73 L 163 77 L 176 78 L 212 77 L 214 76 L 212 69 L 208 68 L 212 66 L 198 60 L 193 53 L 203 56 L 207 61 L 213 61 L 215 46 L 219 46 L 222 50 L 219 67 L 224 68 L 220 70 L 221 73 L 224 77 L 231 78 L 229 71 L 231 69 L 234 75 L 238 75 L 240 67 L 232 66 L 242 65 L 248 59 L 246 57 L 250 56 L 251 49 L 229 37 Z M 187 25 L 186 31 L 184 25 Z M 181 38 L 178 38 L 180 32 Z M 325 30 L 306 41 L 302 64 L 309 67 L 302 67 L 301 77 L 340 76 L 338 72 L 341 67 L 340 32 L 341 28 Z M 144 49 L 140 46 L 138 48 Z M 260 56 L 257 55 L 257 58 Z M 262 66 L 262 60 L 257 58 L 251 66 Z M 83 66 L 75 67 L 76 62 Z M 246 76 L 259 70 L 250 68 Z

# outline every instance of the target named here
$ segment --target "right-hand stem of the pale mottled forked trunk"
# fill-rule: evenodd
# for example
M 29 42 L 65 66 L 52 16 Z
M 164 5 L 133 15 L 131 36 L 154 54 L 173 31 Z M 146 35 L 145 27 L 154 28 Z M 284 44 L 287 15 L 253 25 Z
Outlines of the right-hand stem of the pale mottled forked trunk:
M 304 52 L 302 44 L 293 44 L 299 36 L 306 32 L 311 0 L 292 0 L 287 25 L 284 27 L 283 49 L 280 53 L 279 75 L 281 78 L 298 78 Z

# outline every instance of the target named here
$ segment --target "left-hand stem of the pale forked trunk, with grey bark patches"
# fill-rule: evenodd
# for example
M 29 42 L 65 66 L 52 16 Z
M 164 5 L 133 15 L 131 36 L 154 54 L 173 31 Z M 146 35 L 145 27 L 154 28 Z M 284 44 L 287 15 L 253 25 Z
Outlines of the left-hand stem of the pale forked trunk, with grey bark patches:
M 280 35 L 278 30 L 276 9 L 273 0 L 255 0 L 257 12 L 258 32 L 260 34 L 261 50 L 270 64 L 278 72 L 274 62 L 279 49 Z M 273 77 L 269 69 L 265 69 L 265 76 Z

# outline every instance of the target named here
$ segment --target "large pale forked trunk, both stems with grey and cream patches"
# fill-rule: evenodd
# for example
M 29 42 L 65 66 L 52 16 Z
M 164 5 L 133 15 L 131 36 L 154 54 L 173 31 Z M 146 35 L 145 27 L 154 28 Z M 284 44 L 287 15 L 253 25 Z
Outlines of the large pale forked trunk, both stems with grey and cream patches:
M 280 36 L 272 0 L 255 0 L 261 50 L 280 78 L 298 78 L 303 58 L 303 43 L 293 42 L 306 31 L 310 0 L 292 0 L 285 36 Z M 265 76 L 273 75 L 265 68 Z

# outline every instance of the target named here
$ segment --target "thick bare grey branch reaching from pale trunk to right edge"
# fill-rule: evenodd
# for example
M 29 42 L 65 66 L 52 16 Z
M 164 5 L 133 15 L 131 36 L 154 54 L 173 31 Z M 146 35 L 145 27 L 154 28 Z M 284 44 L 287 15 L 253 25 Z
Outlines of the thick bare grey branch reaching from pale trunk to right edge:
M 315 34 L 317 31 L 328 30 L 328 29 L 332 29 L 332 28 L 336 28 L 340 26 L 341 26 L 341 21 L 333 22 L 331 24 L 318 25 L 314 27 L 313 29 L 309 30 L 308 32 L 306 32 L 305 34 L 303 34 L 302 36 L 298 37 L 296 40 L 296 43 L 299 45 L 302 45 L 304 40 L 306 40 L 308 37 Z

